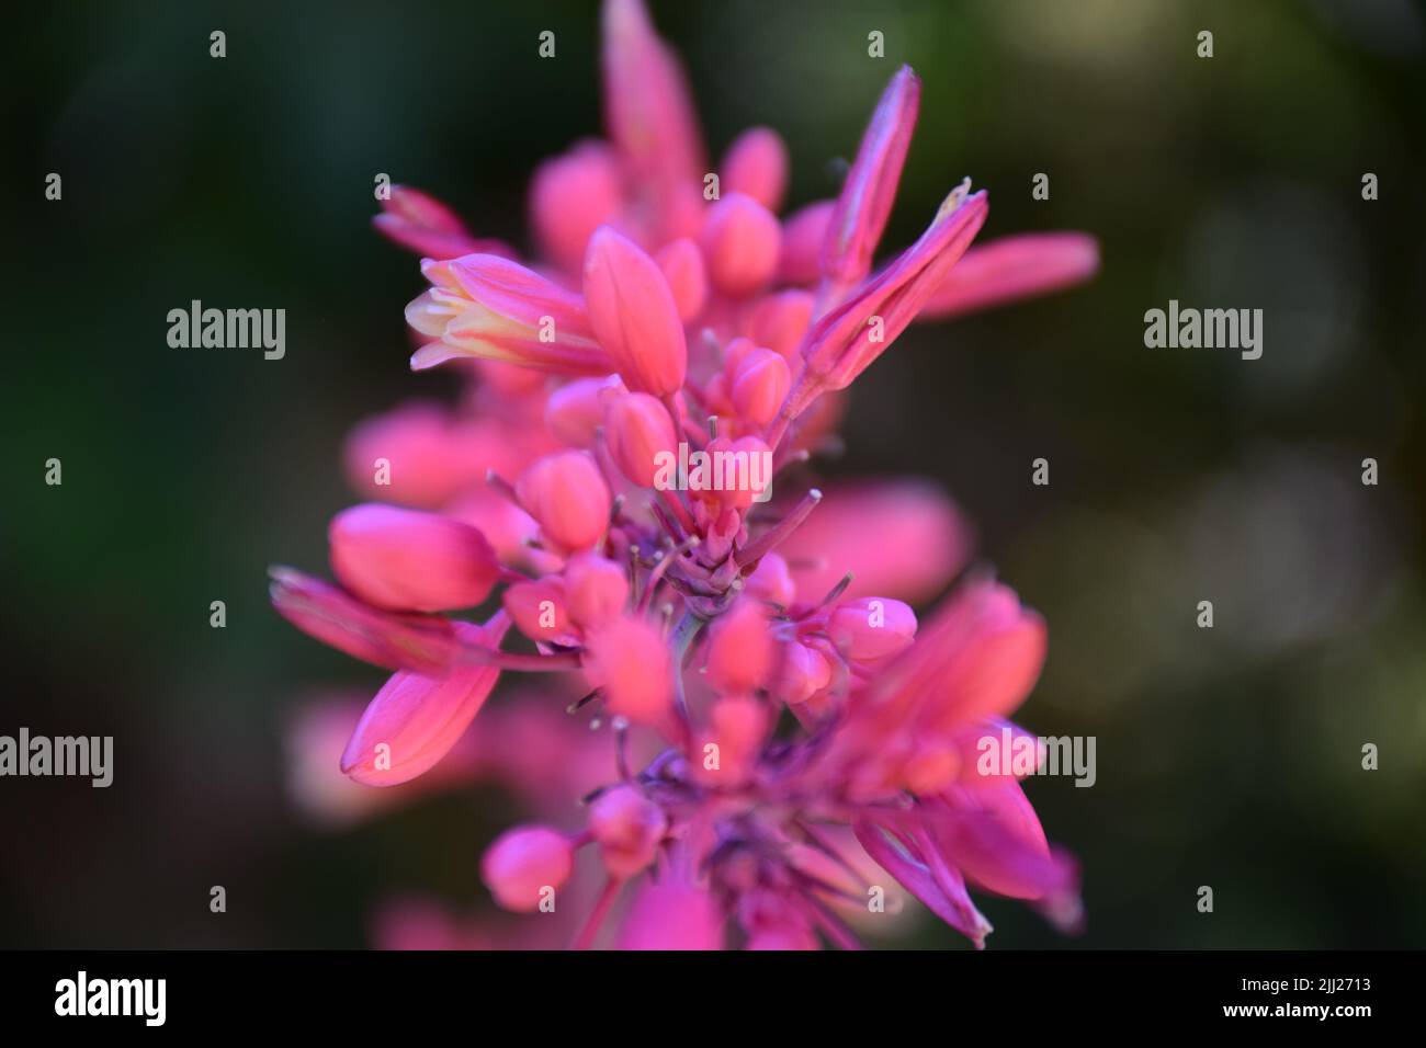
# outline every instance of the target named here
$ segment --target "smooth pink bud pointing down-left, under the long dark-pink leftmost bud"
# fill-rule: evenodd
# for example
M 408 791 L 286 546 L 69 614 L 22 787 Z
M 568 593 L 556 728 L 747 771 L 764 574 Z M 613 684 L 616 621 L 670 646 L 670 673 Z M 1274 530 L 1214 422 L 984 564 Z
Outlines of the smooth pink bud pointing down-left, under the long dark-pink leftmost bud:
M 495 647 L 508 629 L 456 623 L 469 644 Z M 368 786 L 396 786 L 429 771 L 475 720 L 501 672 L 453 666 L 443 677 L 399 670 L 371 700 L 342 753 L 342 771 Z

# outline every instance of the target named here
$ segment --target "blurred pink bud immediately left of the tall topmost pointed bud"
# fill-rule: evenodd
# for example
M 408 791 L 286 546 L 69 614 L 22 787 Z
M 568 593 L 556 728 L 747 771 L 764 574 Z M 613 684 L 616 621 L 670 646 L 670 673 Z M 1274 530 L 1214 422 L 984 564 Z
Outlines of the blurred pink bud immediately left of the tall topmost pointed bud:
M 583 141 L 546 160 L 530 187 L 530 218 L 546 254 L 576 271 L 589 238 L 623 207 L 619 163 L 603 143 Z

